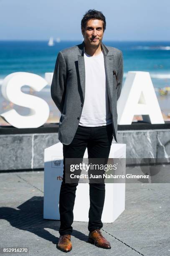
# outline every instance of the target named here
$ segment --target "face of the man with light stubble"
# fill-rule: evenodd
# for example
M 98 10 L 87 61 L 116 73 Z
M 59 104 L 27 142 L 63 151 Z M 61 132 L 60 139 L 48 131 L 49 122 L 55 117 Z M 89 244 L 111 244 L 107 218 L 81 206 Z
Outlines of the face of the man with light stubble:
M 102 41 L 104 30 L 102 20 L 88 20 L 86 28 L 82 31 L 87 46 L 97 47 Z

